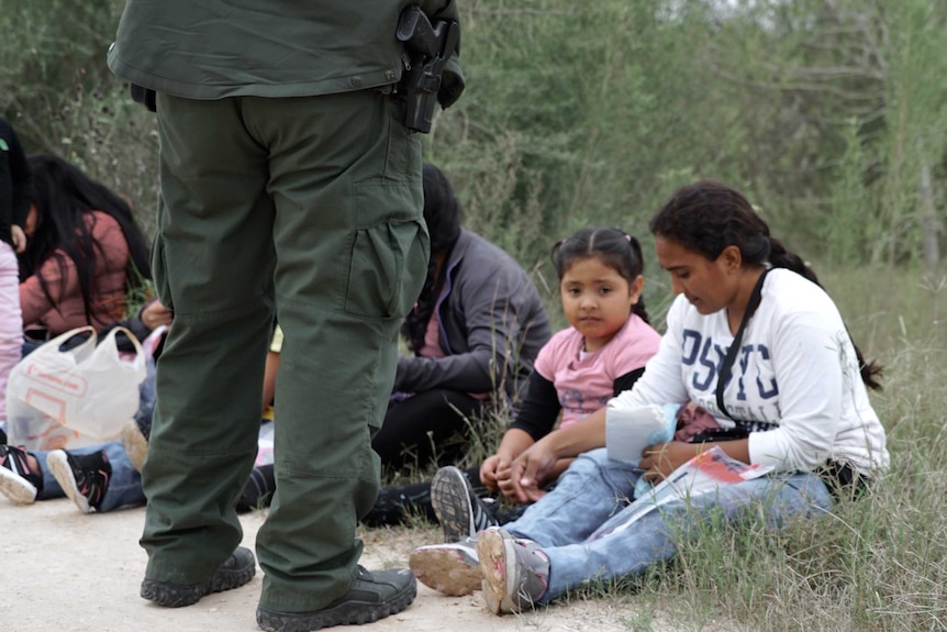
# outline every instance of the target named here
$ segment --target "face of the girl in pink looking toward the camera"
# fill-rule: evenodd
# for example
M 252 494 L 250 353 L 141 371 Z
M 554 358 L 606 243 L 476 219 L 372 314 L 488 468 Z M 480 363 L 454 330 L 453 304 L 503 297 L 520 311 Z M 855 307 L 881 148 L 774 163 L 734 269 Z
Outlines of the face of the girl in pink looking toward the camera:
M 628 284 L 599 257 L 572 262 L 559 281 L 559 292 L 566 319 L 586 336 L 587 352 L 602 348 L 628 321 L 644 282 L 638 276 Z

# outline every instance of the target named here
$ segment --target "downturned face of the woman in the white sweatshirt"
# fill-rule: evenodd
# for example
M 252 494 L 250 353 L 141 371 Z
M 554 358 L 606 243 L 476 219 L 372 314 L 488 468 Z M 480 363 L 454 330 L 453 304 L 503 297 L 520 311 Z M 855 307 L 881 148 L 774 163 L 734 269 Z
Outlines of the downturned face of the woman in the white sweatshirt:
M 679 243 L 655 236 L 658 263 L 671 275 L 675 295 L 683 293 L 698 312 L 706 315 L 728 307 L 739 289 L 739 250 L 727 246 L 711 260 Z M 734 256 L 736 255 L 736 256 Z

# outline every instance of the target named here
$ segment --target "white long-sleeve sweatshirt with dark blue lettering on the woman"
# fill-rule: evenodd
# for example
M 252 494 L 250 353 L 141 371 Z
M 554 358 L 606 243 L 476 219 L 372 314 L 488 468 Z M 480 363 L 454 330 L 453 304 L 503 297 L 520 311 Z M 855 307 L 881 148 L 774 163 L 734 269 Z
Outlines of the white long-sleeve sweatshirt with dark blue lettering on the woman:
M 726 311 L 702 315 L 679 296 L 667 325 L 645 374 L 609 406 L 693 401 L 733 428 L 716 404 L 717 374 L 734 337 Z M 888 467 L 884 429 L 842 315 L 822 288 L 791 270 L 767 275 L 724 404 L 734 419 L 750 422 L 751 463 L 809 472 L 834 459 L 866 476 Z

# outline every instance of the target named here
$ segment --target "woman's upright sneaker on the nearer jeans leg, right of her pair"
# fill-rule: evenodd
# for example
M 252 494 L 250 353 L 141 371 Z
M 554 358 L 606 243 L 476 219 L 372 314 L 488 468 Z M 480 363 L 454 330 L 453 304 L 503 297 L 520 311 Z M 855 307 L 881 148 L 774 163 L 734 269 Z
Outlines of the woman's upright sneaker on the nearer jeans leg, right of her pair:
M 532 608 L 546 592 L 549 558 L 532 540 L 513 537 L 495 526 L 480 534 L 477 554 L 483 597 L 494 614 Z

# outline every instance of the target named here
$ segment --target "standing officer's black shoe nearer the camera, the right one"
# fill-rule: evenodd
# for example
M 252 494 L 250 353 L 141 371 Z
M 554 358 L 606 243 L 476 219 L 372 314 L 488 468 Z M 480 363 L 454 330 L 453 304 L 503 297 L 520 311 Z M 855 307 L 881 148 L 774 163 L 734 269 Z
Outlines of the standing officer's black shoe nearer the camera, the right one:
M 356 567 L 348 592 L 313 612 L 256 609 L 256 622 L 268 632 L 311 632 L 333 625 L 361 625 L 401 612 L 414 601 L 417 583 L 406 568 L 370 573 Z

